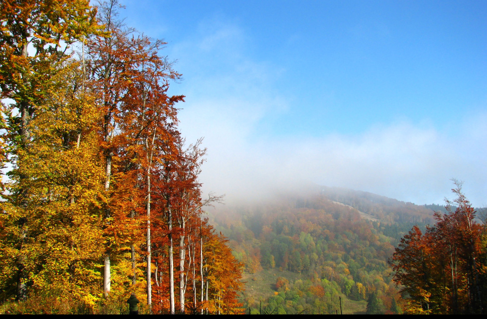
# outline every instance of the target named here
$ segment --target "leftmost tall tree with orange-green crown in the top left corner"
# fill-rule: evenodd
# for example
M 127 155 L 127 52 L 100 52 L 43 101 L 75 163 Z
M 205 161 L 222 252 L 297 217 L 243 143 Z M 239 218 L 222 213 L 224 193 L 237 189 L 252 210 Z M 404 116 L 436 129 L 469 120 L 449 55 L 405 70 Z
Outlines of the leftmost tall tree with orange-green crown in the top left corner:
M 95 32 L 96 10 L 87 0 L 2 1 L 0 4 L 0 88 L 1 97 L 14 100 L 4 110 L 9 125 L 4 141 L 10 144 L 15 181 L 9 202 L 17 211 L 19 238 L 16 241 L 17 299 L 26 298 L 26 256 L 23 252 L 28 234 L 29 178 L 21 172 L 20 152 L 32 145 L 31 121 L 52 88 L 51 78 L 69 58 L 70 46 L 83 35 Z

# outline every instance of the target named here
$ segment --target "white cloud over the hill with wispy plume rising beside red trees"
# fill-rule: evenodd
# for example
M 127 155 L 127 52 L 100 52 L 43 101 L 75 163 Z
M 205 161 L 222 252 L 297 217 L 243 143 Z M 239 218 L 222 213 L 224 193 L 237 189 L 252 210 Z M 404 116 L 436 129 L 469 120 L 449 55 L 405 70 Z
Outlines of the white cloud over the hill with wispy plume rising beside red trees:
M 181 130 L 189 142 L 204 136 L 208 147 L 201 175 L 206 192 L 245 199 L 314 182 L 440 203 L 455 177 L 465 180 L 475 205 L 487 204 L 487 113 L 441 129 L 403 120 L 352 136 L 259 132 L 258 124 L 292 107 L 273 87 L 282 70 L 247 58 L 248 39 L 236 26 L 208 25 L 170 53 L 185 74 L 176 88 L 187 95 Z

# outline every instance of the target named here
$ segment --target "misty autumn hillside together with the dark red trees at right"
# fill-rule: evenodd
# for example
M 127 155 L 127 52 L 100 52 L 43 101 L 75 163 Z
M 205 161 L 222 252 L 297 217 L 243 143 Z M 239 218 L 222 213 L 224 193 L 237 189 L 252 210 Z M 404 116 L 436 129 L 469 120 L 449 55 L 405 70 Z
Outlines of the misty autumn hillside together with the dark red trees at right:
M 486 230 L 453 191 L 443 207 L 320 187 L 210 215 L 245 265 L 247 314 L 484 313 Z

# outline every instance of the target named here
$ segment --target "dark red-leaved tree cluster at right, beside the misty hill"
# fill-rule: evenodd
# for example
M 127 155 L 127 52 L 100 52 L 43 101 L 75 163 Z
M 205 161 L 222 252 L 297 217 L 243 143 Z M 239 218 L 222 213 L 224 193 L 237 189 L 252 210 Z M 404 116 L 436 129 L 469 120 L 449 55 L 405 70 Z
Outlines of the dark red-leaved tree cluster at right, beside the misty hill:
M 485 314 L 486 227 L 455 183 L 455 206 L 435 213 L 436 224 L 426 232 L 413 227 L 393 254 L 394 281 L 408 313 Z

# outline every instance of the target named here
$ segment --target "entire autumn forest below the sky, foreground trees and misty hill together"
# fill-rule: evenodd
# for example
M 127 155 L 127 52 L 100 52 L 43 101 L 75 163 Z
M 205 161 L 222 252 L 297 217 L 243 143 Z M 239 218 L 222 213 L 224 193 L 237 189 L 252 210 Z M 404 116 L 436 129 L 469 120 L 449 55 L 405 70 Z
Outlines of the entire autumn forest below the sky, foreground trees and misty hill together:
M 182 75 L 122 9 L 0 2 L 0 313 L 487 312 L 486 214 L 456 180 L 445 206 L 202 194 Z

